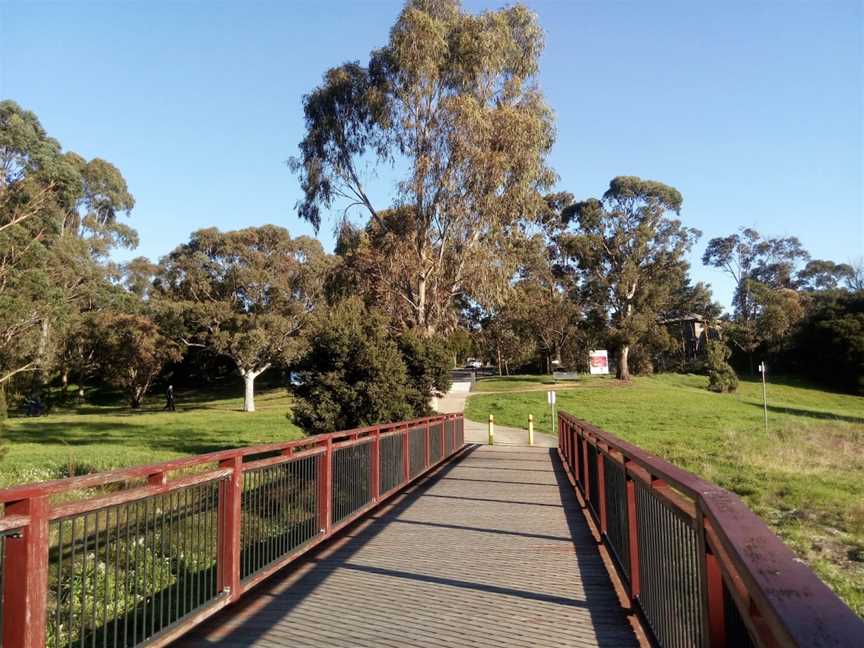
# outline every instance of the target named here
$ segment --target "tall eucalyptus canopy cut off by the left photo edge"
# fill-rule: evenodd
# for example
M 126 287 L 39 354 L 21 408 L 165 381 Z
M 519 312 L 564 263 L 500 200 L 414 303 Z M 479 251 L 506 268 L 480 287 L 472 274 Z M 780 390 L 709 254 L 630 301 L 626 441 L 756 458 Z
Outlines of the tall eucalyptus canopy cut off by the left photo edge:
M 135 245 L 118 218 L 133 206 L 116 167 L 64 152 L 34 113 L 0 102 L 0 384 L 50 367 L 111 249 Z

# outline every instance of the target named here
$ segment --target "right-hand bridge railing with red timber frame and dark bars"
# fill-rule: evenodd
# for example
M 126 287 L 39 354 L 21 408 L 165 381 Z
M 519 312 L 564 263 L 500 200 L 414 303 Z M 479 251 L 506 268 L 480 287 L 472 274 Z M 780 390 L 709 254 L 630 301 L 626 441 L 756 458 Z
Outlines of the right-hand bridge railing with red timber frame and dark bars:
M 732 493 L 559 412 L 559 453 L 663 648 L 853 646 L 864 622 Z

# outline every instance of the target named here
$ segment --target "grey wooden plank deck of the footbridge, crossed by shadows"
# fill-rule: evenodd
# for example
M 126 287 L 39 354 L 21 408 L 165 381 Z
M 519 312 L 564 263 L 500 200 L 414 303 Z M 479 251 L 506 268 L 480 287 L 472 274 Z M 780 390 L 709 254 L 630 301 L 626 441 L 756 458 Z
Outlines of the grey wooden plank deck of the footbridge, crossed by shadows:
M 176 645 L 637 645 L 553 453 L 467 450 Z

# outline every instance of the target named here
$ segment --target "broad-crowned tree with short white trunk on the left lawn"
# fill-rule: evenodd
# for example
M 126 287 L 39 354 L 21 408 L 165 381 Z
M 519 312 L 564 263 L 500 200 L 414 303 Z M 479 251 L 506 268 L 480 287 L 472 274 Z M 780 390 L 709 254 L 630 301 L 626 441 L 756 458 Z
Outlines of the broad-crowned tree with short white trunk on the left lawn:
M 185 345 L 234 362 L 253 412 L 255 379 L 299 357 L 328 265 L 317 240 L 275 225 L 203 229 L 162 260 L 151 300 Z

